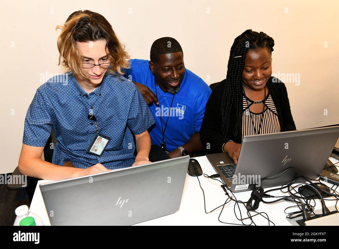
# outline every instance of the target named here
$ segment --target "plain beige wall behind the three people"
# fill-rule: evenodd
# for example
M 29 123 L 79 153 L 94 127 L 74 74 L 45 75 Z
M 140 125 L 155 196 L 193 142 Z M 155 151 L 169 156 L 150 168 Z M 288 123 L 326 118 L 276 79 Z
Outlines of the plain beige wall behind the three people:
M 207 84 L 225 78 L 236 36 L 263 31 L 276 44 L 273 72 L 300 74 L 300 84 L 286 83 L 297 129 L 339 123 L 339 1 L 2 1 L 1 8 L 0 173 L 17 166 L 27 108 L 47 80 L 41 74 L 64 71 L 54 28 L 80 9 L 111 22 L 132 58 L 149 59 L 155 39 L 176 38 L 185 66 Z

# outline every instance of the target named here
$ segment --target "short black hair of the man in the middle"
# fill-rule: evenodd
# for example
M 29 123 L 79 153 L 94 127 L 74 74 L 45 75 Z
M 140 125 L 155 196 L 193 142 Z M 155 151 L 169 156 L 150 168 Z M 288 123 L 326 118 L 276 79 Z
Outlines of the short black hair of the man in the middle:
M 159 61 L 159 55 L 178 52 L 181 52 L 182 56 L 184 56 L 182 48 L 176 39 L 172 37 L 162 37 L 153 42 L 149 58 L 153 63 L 157 63 Z

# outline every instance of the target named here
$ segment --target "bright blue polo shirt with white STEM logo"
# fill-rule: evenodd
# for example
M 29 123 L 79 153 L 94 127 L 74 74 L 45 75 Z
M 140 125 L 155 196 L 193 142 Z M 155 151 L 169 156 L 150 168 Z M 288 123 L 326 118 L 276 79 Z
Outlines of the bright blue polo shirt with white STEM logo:
M 155 76 L 148 65 L 148 60 L 131 60 L 131 68 L 125 71 L 127 79 L 146 85 L 156 94 Z M 172 108 L 173 94 L 163 92 L 157 86 L 159 106 L 156 103 L 149 104 L 149 108 L 155 118 L 155 124 L 148 129 L 152 144 L 159 145 L 162 142 L 162 131 L 165 128 L 166 150 L 173 151 L 185 144 L 190 137 L 200 131 L 205 106 L 211 95 L 211 88 L 197 75 L 185 69 L 184 78 L 180 83 L 180 90 L 175 94 Z

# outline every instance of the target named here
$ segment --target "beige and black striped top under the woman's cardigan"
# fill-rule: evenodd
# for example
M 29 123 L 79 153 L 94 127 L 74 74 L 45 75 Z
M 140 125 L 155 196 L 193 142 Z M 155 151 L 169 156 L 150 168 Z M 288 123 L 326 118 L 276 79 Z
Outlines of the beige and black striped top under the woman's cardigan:
M 262 112 L 253 113 L 249 109 L 247 110 L 247 108 L 250 107 L 252 104 L 252 100 L 247 98 L 246 102 L 245 96 L 242 97 L 242 139 L 244 138 L 244 136 L 257 134 L 256 131 L 258 132 L 259 129 Z M 280 132 L 278 113 L 270 92 L 268 92 L 265 105 L 267 106 L 267 108 L 266 110 L 264 110 L 260 134 Z

